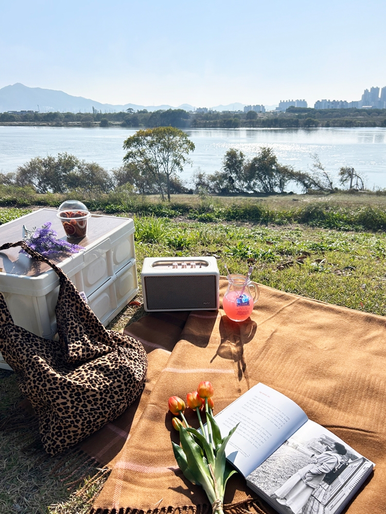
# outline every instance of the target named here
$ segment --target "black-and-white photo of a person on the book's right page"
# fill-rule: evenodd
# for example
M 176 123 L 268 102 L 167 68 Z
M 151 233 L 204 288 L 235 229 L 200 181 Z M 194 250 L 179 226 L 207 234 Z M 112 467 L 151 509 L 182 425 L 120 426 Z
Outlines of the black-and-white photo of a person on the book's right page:
M 337 514 L 372 463 L 308 420 L 247 477 L 279 512 Z

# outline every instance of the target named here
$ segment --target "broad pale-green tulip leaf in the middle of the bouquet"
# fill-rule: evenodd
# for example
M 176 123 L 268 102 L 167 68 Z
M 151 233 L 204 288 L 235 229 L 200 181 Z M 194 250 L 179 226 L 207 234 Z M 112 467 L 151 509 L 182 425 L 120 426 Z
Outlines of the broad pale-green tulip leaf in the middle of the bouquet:
M 186 428 L 180 429 L 180 439 L 189 471 L 194 476 L 196 482 L 204 488 L 210 503 L 213 503 L 216 500 L 214 484 L 206 459 L 201 455 L 201 448 L 190 436 Z

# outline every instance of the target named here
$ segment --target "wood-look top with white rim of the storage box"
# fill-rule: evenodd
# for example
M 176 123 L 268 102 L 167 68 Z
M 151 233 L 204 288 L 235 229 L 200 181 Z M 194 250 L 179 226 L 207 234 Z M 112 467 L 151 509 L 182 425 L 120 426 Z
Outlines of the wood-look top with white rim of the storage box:
M 51 228 L 58 233 L 59 238 L 84 247 L 79 253 L 63 253 L 51 258 L 52 262 L 68 273 L 89 265 L 113 248 L 122 237 L 134 232 L 132 218 L 93 214 L 88 222 L 87 235 L 81 239 L 68 240 L 56 214 L 57 210 L 54 209 L 39 209 L 5 223 L 0 226 L 0 245 L 21 241 L 23 225 L 31 230 L 51 222 Z M 0 251 L 0 291 L 45 295 L 58 283 L 57 274 L 48 264 L 31 259 L 19 251 L 19 247 Z

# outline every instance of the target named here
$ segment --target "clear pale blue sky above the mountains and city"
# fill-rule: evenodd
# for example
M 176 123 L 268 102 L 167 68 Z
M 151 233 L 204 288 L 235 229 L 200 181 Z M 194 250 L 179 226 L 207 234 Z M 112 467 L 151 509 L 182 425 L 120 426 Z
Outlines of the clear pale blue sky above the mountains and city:
M 0 0 L 0 88 L 195 107 L 386 86 L 384 0 Z

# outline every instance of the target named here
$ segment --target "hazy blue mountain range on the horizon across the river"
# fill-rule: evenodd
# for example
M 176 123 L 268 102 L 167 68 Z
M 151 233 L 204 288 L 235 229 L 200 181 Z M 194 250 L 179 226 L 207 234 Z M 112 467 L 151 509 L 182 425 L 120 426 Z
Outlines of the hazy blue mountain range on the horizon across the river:
M 229 105 L 217 105 L 212 107 L 214 111 L 242 111 L 243 103 L 232 103 Z M 5 86 L 0 89 L 0 113 L 7 111 L 40 111 L 41 113 L 92 113 L 93 107 L 102 113 L 114 113 L 126 111 L 132 108 L 134 111 L 147 109 L 149 112 L 159 109 L 184 109 L 194 111 L 189 104 L 182 104 L 178 107 L 172 105 L 136 105 L 126 103 L 125 105 L 112 105 L 100 103 L 89 98 L 67 95 L 63 91 L 54 89 L 42 89 L 41 87 L 28 87 L 20 83 Z

